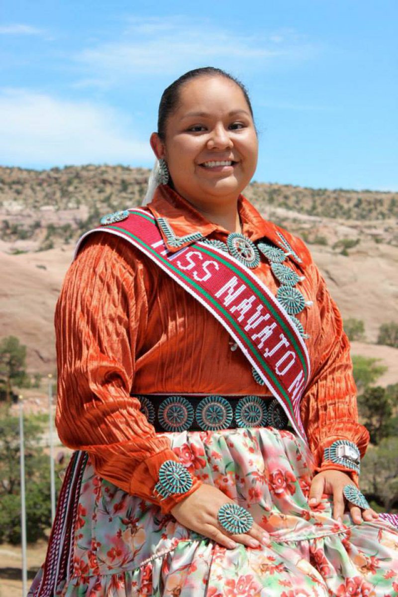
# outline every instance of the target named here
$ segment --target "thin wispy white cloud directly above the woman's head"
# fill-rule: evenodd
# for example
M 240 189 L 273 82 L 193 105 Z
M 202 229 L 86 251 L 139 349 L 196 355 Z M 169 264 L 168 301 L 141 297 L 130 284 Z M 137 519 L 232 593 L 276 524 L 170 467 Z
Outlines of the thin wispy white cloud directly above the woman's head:
M 236 72 L 277 60 L 308 59 L 315 51 L 293 30 L 248 36 L 215 27 L 206 19 L 193 22 L 181 16 L 127 19 L 121 38 L 76 55 L 89 78 L 120 81 L 132 75 L 173 75 L 206 64 Z

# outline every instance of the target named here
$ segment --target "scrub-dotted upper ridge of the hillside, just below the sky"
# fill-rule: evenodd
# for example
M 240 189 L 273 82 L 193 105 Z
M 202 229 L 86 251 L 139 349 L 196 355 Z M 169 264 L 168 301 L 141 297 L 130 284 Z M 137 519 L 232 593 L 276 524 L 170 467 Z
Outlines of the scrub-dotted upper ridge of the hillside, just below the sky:
M 140 204 L 148 176 L 149 170 L 123 166 L 0 168 L 0 249 L 42 251 L 75 242 L 104 214 Z M 359 238 L 398 245 L 397 193 L 252 183 L 246 195 L 261 213 L 289 223 L 308 242 L 341 241 L 337 250 Z M 325 218 L 344 220 L 343 236 L 325 236 Z

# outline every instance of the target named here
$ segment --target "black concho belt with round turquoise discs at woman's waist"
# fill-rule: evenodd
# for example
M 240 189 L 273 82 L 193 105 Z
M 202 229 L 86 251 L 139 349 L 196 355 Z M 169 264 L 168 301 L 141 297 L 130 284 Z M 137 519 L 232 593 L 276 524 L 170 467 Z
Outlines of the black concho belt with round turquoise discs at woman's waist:
M 261 396 L 138 395 L 156 432 L 218 431 L 237 427 L 287 429 L 288 417 L 276 398 Z

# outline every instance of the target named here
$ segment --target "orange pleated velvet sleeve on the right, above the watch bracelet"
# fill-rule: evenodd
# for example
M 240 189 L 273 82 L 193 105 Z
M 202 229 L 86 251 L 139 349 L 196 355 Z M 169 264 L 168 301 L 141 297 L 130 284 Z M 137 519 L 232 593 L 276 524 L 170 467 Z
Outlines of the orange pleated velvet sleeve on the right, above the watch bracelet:
M 357 482 L 356 473 L 340 464 L 323 461 L 325 448 L 338 439 L 354 442 L 363 456 L 369 433 L 358 420 L 350 343 L 343 330 L 343 319 L 313 263 L 307 275 L 316 288 L 316 301 L 311 307 L 316 324 L 309 328 L 313 334 L 310 341 L 314 367 L 301 402 L 301 417 L 316 470 L 344 470 Z

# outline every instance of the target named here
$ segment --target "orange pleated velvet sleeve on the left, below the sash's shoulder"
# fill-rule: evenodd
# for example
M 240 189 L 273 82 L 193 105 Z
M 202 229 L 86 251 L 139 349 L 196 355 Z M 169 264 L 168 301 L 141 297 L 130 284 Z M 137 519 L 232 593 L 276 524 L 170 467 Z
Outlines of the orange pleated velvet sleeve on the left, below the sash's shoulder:
M 117 236 L 92 233 L 70 266 L 55 309 L 56 425 L 61 441 L 87 451 L 95 471 L 169 512 L 189 493 L 158 501 L 159 467 L 178 461 L 130 393 L 148 315 L 143 260 Z

